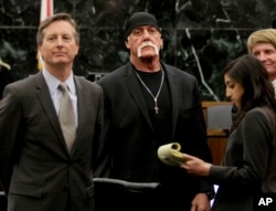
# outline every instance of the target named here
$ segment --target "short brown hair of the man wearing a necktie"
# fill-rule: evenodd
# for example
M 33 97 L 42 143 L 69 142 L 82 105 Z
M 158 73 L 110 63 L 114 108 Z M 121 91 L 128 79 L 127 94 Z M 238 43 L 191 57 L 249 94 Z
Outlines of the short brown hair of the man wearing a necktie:
M 53 23 L 55 21 L 60 21 L 60 20 L 67 21 L 75 29 L 74 36 L 75 36 L 76 43 L 81 42 L 79 31 L 78 31 L 78 27 L 77 27 L 76 21 L 68 13 L 61 12 L 61 13 L 53 14 L 41 22 L 39 30 L 36 32 L 36 44 L 38 45 L 41 44 L 43 41 L 43 38 L 44 38 L 43 30 L 47 25 L 50 25 L 51 23 Z

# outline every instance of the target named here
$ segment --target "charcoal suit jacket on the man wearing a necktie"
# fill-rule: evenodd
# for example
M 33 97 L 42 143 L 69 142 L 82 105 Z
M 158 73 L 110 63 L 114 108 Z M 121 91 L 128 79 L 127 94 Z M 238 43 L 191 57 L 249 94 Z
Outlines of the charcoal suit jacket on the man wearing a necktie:
M 92 211 L 103 89 L 74 76 L 78 127 L 71 155 L 42 73 L 7 86 L 0 104 L 0 181 L 9 211 Z

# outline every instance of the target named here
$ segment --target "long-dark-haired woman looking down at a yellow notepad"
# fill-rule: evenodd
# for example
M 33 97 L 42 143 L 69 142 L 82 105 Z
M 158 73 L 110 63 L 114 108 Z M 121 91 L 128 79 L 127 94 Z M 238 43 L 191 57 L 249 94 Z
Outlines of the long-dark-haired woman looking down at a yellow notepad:
M 276 99 L 268 73 L 251 55 L 224 71 L 226 96 L 236 107 L 223 166 L 183 154 L 181 167 L 219 186 L 212 210 L 252 211 L 266 193 L 276 193 Z

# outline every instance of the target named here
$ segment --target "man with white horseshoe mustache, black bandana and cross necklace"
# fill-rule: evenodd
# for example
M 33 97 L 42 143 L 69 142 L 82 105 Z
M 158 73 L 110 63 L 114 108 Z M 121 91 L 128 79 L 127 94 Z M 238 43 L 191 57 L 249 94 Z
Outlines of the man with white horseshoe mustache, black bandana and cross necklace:
M 151 198 L 156 210 L 209 210 L 212 184 L 157 156 L 159 146 L 180 143 L 182 152 L 212 160 L 197 78 L 160 61 L 163 40 L 150 13 L 126 22 L 125 45 L 130 61 L 97 82 L 105 95 L 110 178 L 160 183 Z

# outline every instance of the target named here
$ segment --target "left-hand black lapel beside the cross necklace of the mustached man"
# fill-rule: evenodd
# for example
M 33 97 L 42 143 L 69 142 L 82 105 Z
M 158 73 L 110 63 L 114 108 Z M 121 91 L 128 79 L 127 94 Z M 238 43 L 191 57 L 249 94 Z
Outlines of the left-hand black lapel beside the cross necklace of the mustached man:
M 140 109 L 142 116 L 146 118 L 147 123 L 149 124 L 150 128 L 153 130 L 152 124 L 149 118 L 149 114 L 147 112 L 147 106 L 145 98 L 142 96 L 139 82 L 137 80 L 137 76 L 135 75 L 135 70 L 132 68 L 130 63 L 126 64 L 126 74 L 124 76 L 125 84 L 127 88 L 129 89 L 130 96 L 136 102 L 136 105 Z

